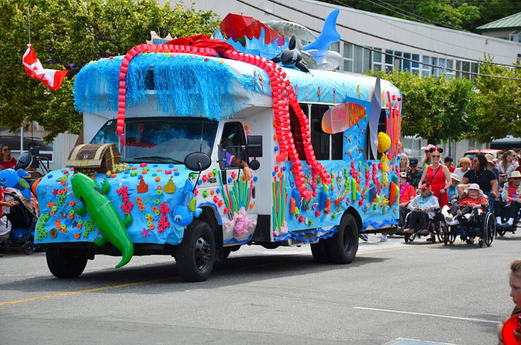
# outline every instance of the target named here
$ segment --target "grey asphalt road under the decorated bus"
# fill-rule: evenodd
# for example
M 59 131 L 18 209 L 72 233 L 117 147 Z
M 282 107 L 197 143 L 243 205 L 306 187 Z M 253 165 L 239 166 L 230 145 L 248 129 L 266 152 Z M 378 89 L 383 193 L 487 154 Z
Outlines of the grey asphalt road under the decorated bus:
M 79 278 L 57 279 L 45 253 L 8 252 L 0 343 L 495 344 L 520 245 L 518 234 L 481 249 L 371 235 L 350 265 L 317 264 L 309 247 L 246 246 L 195 284 L 168 256 L 119 269 L 96 256 Z

